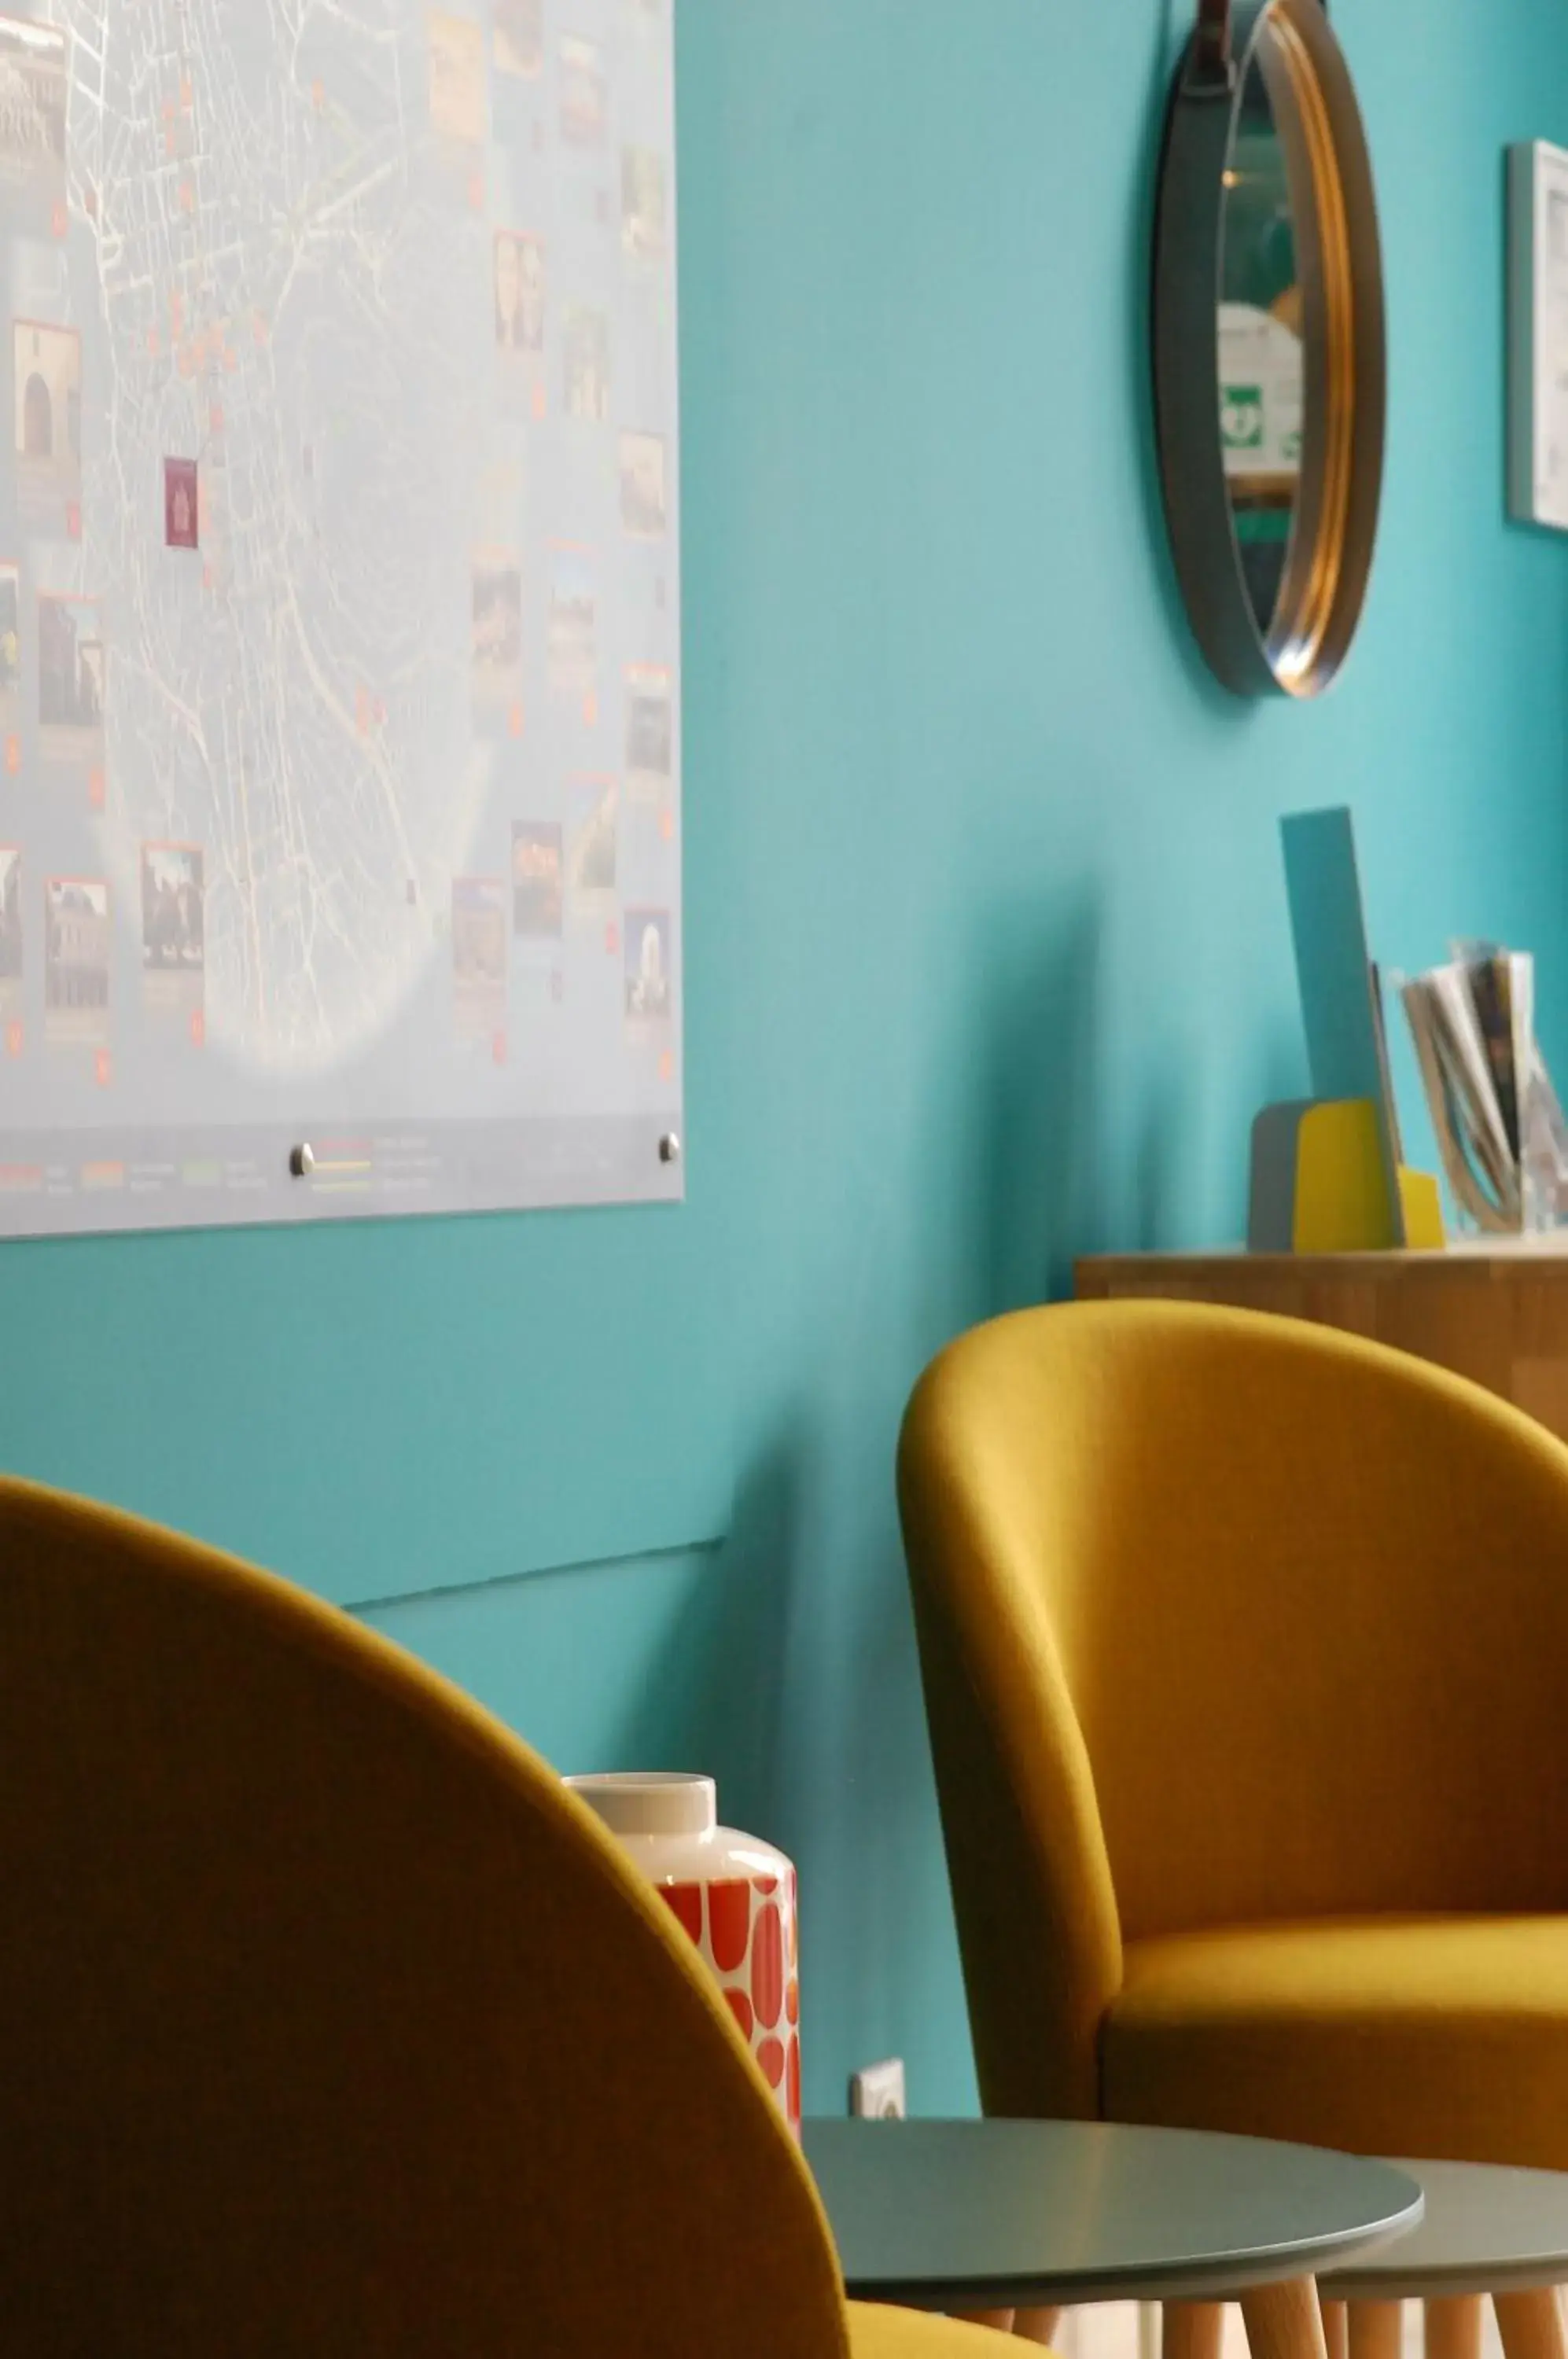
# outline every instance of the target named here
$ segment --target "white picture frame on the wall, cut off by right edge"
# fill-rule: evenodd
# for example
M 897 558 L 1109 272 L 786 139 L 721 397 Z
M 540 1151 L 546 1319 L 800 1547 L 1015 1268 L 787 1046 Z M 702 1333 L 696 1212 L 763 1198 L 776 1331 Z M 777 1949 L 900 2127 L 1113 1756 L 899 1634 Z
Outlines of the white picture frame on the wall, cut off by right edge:
M 1568 533 L 1568 149 L 1509 149 L 1509 514 Z

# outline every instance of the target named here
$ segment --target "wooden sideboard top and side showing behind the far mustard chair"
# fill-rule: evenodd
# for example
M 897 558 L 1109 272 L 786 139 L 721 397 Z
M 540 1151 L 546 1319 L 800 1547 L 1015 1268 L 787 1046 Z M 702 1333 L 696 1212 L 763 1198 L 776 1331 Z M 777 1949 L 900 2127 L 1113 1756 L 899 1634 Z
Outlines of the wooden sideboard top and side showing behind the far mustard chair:
M 1469 1375 L 1568 1441 L 1568 1241 L 1448 1253 L 1127 1253 L 1078 1264 L 1082 1302 L 1148 1295 L 1370 1335 Z

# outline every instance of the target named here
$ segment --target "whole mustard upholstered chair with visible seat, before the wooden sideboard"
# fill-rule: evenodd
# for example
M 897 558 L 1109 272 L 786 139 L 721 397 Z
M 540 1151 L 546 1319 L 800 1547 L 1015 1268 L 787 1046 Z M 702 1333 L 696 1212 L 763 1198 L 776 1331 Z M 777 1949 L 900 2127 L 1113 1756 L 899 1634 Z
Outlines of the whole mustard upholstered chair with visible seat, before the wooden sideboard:
M 1559 1441 L 1323 1328 L 1082 1305 L 936 1361 L 901 1507 L 988 2111 L 1568 2170 Z

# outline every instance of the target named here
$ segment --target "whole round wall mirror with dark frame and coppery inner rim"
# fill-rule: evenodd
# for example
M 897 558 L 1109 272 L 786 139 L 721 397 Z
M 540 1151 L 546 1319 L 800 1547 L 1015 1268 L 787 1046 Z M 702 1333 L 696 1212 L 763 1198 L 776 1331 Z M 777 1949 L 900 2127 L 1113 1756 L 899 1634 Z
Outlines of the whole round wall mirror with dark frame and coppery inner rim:
M 1365 602 L 1384 451 L 1372 163 L 1323 0 L 1200 0 L 1155 226 L 1177 573 L 1238 696 L 1318 696 Z

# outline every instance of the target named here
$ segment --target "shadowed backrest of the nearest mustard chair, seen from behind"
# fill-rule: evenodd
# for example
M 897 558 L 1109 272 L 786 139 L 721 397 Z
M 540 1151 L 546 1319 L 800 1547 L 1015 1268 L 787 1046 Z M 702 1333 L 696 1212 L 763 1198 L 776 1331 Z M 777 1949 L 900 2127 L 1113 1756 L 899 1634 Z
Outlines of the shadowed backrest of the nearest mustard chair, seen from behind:
M 811 2180 L 523 1746 L 283 1583 L 0 1484 L 0 2345 L 846 2350 Z

